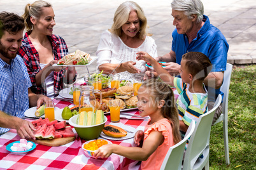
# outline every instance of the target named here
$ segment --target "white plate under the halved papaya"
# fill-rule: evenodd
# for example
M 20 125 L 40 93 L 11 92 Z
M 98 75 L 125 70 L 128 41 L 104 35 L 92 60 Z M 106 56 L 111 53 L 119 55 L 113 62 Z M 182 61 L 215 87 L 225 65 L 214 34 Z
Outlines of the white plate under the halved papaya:
M 129 133 L 127 132 L 127 135 L 124 136 L 124 137 L 121 137 L 121 138 L 113 138 L 111 136 L 106 136 L 106 134 L 104 134 L 103 132 L 101 132 L 101 137 L 107 139 L 107 140 L 127 140 L 127 139 L 130 139 L 130 138 L 133 138 L 135 133 L 136 133 L 136 129 L 135 128 L 132 128 L 131 126 L 126 126 L 122 123 L 110 123 L 112 125 L 115 125 L 115 126 L 118 126 L 120 128 L 123 128 L 124 130 L 127 129 L 128 131 L 132 131 L 133 133 Z

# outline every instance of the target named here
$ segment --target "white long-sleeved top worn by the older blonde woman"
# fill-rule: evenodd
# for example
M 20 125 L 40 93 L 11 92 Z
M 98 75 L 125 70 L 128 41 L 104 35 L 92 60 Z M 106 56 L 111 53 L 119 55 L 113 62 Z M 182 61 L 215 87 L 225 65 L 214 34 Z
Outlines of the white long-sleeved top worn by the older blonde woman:
M 97 60 L 97 68 L 103 63 L 120 63 L 134 61 L 135 67 L 141 70 L 141 73 L 146 72 L 146 62 L 143 60 L 136 60 L 136 53 L 139 51 L 145 51 L 153 58 L 157 57 L 157 44 L 152 37 L 146 36 L 145 41 L 138 48 L 130 48 L 125 45 L 120 37 L 115 34 L 111 34 L 108 30 L 105 30 L 101 34 L 101 41 L 96 51 L 96 55 L 99 56 Z M 120 79 L 131 80 L 134 74 L 127 71 L 120 72 Z

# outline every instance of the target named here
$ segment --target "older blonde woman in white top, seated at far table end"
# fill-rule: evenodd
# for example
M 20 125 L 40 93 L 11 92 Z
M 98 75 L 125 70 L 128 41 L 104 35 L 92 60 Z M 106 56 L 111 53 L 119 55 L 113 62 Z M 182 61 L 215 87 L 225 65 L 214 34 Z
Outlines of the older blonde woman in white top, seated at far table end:
M 157 57 L 157 45 L 146 31 L 143 10 L 137 3 L 126 1 L 117 8 L 113 21 L 111 29 L 101 36 L 96 51 L 97 67 L 110 74 L 118 66 L 115 73 L 120 73 L 120 79 L 132 79 L 136 73 L 145 73 L 145 62 L 136 61 L 136 53 L 146 51 Z

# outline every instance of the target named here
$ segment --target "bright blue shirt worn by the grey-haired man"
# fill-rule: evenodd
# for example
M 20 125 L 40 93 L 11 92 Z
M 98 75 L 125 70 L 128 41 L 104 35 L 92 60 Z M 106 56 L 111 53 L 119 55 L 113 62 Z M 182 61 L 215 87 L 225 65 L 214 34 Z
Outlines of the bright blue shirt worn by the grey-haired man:
M 211 25 L 208 16 L 204 15 L 204 25 L 197 32 L 197 37 L 188 43 L 186 34 L 178 34 L 177 29 L 173 30 L 173 42 L 171 49 L 176 54 L 176 63 L 180 64 L 182 55 L 190 51 L 201 52 L 208 56 L 213 65 L 211 72 L 222 72 L 226 70 L 227 51 L 229 44 L 217 27 Z M 208 89 L 208 101 L 215 101 L 218 94 L 223 93 L 220 89 L 213 89 L 206 86 Z

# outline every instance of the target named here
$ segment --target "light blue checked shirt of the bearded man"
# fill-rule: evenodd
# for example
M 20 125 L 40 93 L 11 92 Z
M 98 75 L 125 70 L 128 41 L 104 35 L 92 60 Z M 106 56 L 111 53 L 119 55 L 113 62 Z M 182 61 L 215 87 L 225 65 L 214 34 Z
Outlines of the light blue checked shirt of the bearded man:
M 27 68 L 20 56 L 11 64 L 0 58 L 0 110 L 8 115 L 24 117 L 29 108 L 28 88 L 32 86 Z M 0 117 L 1 119 L 1 117 Z M 0 128 L 0 135 L 10 129 Z

